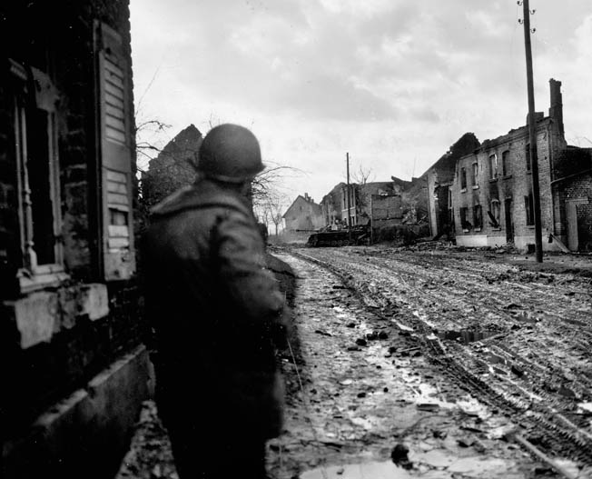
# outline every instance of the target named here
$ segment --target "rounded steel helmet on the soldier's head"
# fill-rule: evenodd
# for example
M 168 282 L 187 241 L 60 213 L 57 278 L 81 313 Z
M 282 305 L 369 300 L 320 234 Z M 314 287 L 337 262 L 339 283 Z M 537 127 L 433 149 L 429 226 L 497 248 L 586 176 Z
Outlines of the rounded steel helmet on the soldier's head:
M 197 169 L 209 178 L 225 183 L 243 183 L 264 168 L 259 142 L 244 126 L 214 126 L 203 138 Z

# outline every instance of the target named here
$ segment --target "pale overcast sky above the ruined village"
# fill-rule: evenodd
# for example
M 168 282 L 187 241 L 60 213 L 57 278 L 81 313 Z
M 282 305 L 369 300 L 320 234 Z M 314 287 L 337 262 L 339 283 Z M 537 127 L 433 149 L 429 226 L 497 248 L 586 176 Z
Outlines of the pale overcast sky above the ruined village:
M 283 190 L 316 201 L 351 170 L 421 175 L 465 132 L 524 125 L 516 0 L 132 0 L 138 123 L 249 126 Z M 568 143 L 592 146 L 592 1 L 531 0 L 537 111 L 562 82 Z

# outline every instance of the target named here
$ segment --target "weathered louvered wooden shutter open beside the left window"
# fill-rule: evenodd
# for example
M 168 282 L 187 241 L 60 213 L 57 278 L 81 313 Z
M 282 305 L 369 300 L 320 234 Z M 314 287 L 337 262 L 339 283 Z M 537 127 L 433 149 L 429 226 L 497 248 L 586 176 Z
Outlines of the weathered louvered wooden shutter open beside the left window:
M 133 249 L 132 81 L 121 35 L 96 24 L 104 279 L 128 279 Z

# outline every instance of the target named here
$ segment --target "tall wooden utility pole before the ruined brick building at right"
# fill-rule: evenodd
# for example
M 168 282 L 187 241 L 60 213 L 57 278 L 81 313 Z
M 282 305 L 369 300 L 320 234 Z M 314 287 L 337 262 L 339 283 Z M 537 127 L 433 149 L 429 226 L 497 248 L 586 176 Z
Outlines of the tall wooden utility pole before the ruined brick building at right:
M 524 25 L 524 47 L 527 55 L 527 85 L 528 85 L 528 138 L 530 141 L 530 168 L 532 172 L 532 197 L 535 210 L 535 246 L 537 248 L 537 263 L 543 262 L 543 238 L 540 221 L 540 191 L 538 187 L 538 157 L 537 157 L 537 119 L 535 118 L 535 93 L 532 79 L 532 50 L 530 47 L 530 8 L 528 0 L 522 0 Z M 534 11 L 533 11 L 534 13 Z

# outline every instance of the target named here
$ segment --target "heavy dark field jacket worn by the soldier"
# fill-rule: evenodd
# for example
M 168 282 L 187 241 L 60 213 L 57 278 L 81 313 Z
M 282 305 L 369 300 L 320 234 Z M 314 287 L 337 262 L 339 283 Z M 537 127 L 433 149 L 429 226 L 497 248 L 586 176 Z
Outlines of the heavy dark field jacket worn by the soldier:
M 199 180 L 156 205 L 150 223 L 143 276 L 163 420 L 279 434 L 284 297 L 251 209 Z

